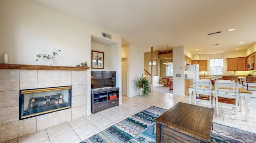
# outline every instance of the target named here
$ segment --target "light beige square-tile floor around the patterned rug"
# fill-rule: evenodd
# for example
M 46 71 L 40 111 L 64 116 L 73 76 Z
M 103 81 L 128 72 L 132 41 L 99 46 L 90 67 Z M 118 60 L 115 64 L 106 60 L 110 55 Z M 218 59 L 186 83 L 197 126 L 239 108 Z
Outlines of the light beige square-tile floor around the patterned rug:
M 79 143 L 150 106 L 170 109 L 178 102 L 189 103 L 189 98 L 188 96 L 178 96 L 172 93 L 156 91 L 151 92 L 146 97 L 135 96 L 128 98 L 122 96 L 122 104 L 120 106 L 12 139 L 8 143 Z M 202 106 L 206 105 L 202 103 Z M 220 115 L 217 116 L 215 111 L 213 121 L 256 133 L 255 103 L 251 103 L 250 106 L 250 121 L 246 122 L 244 118 L 245 111 L 238 112 L 238 120 L 234 120 L 234 115 L 224 111 L 220 111 Z

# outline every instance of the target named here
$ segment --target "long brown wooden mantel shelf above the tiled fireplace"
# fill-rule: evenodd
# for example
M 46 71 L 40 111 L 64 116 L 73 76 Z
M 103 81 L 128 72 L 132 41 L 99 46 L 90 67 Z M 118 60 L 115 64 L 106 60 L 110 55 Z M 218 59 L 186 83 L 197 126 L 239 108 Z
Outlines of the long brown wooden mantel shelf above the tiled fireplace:
M 87 69 L 90 69 L 90 67 L 78 68 L 65 66 L 0 64 L 0 69 L 86 71 Z

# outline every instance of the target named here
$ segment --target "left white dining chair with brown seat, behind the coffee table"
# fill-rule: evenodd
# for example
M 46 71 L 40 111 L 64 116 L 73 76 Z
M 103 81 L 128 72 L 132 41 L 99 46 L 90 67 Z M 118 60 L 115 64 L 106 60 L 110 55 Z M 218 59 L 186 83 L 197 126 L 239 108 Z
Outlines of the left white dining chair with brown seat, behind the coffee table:
M 212 96 L 212 83 L 195 81 L 194 84 L 194 102 L 195 105 L 198 105 L 198 102 L 206 102 L 209 103 L 210 108 L 213 106 L 213 96 Z

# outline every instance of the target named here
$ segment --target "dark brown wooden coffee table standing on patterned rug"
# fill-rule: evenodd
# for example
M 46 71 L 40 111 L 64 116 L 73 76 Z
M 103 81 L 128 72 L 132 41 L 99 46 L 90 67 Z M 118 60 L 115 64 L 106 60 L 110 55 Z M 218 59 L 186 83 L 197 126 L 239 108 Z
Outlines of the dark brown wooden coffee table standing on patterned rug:
M 209 143 L 214 109 L 179 102 L 155 119 L 157 143 Z

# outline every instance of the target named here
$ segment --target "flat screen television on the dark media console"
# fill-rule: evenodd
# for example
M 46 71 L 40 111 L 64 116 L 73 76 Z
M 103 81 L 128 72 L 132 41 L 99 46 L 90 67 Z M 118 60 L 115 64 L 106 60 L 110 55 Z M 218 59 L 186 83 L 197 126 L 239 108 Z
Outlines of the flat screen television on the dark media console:
M 116 87 L 115 71 L 91 71 L 91 89 Z

